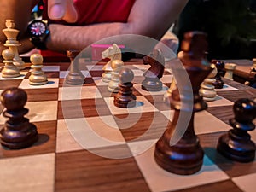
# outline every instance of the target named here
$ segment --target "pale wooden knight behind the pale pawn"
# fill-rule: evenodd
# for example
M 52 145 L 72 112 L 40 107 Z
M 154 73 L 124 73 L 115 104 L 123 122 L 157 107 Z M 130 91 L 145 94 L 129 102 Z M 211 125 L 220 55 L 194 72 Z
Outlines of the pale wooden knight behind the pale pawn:
M 113 44 L 113 46 L 102 52 L 103 59 L 110 59 L 108 63 L 102 68 L 104 73 L 102 73 L 102 81 L 108 83 L 111 80 L 111 72 L 113 71 L 112 62 L 114 60 L 122 60 L 121 49 L 117 44 Z

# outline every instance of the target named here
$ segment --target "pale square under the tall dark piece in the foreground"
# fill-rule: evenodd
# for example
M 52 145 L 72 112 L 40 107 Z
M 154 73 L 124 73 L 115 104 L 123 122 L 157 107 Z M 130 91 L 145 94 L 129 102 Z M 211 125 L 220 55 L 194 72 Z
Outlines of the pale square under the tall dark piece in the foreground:
M 131 151 L 133 151 L 132 148 Z M 204 156 L 201 171 L 190 176 L 172 174 L 158 166 L 154 160 L 154 147 L 149 148 L 143 154 L 135 156 L 135 159 L 143 172 L 143 177 L 145 177 L 149 188 L 153 192 L 186 189 L 206 183 L 224 181 L 229 178 L 206 155 Z

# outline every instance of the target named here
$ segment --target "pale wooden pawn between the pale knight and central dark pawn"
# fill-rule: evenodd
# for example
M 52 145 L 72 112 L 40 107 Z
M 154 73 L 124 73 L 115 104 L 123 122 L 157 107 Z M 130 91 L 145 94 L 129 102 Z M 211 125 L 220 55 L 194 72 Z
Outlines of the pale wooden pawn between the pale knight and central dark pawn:
M 124 62 L 114 60 L 111 67 L 113 71 L 111 72 L 111 80 L 108 82 L 108 91 L 117 93 L 119 92 L 119 71 L 124 67 Z

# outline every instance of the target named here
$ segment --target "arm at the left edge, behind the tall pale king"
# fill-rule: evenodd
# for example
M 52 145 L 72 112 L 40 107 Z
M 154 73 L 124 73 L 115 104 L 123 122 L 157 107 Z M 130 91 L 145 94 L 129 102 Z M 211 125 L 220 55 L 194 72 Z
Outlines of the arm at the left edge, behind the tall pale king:
M 22 46 L 19 47 L 19 52 L 23 53 L 33 48 L 29 39 L 25 37 L 27 23 L 30 20 L 32 8 L 38 3 L 37 0 L 0 0 L 0 54 L 3 49 L 8 49 L 3 46 L 6 41 L 6 36 L 2 30 L 6 28 L 5 20 L 14 20 L 15 29 L 19 29 L 18 40 Z

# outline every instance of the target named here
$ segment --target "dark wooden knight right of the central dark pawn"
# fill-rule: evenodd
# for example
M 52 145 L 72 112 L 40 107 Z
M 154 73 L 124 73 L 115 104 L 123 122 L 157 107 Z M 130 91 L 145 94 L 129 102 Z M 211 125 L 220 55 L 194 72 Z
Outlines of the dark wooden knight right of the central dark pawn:
M 143 57 L 143 63 L 150 65 L 148 71 L 143 73 L 145 79 L 142 82 L 142 89 L 148 91 L 160 91 L 163 84 L 160 79 L 165 70 L 165 58 L 160 49 L 154 49 L 148 56 Z

